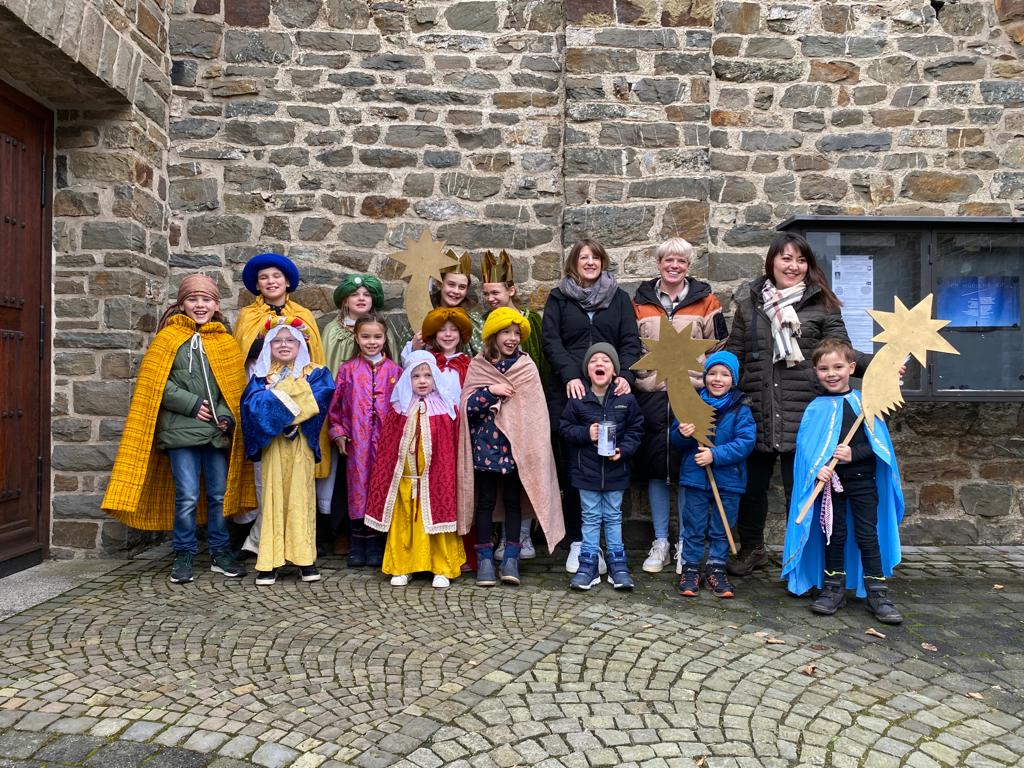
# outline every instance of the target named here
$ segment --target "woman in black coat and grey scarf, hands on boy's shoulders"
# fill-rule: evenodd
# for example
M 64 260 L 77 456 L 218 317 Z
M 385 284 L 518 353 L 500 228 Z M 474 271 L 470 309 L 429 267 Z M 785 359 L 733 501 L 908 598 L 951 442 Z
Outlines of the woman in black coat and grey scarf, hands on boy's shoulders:
M 634 378 L 630 366 L 642 354 L 633 303 L 608 271 L 608 254 L 601 244 L 581 240 L 572 246 L 565 259 L 564 273 L 548 296 L 541 326 L 544 354 L 551 366 L 546 389 L 554 428 L 568 398 L 579 399 L 586 394 L 583 357 L 591 344 L 604 341 L 618 352 L 622 367 L 615 380 L 616 394 L 631 391 Z M 562 455 L 567 455 L 567 451 L 563 450 Z M 564 461 L 559 462 L 559 482 L 565 536 L 571 542 L 565 569 L 574 573 L 580 566 L 582 539 L 580 495 L 565 476 Z

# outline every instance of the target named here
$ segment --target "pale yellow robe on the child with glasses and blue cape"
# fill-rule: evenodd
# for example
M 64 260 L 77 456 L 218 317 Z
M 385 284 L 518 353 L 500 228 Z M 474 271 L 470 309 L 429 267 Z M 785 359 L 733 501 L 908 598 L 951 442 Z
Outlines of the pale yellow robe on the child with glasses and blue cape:
M 293 424 L 301 424 L 319 412 L 305 378 L 287 377 L 275 390 L 298 406 Z M 272 570 L 286 562 L 312 565 L 316 560 L 313 452 L 301 434 L 292 440 L 275 437 L 263 451 L 261 471 L 263 522 L 256 570 Z

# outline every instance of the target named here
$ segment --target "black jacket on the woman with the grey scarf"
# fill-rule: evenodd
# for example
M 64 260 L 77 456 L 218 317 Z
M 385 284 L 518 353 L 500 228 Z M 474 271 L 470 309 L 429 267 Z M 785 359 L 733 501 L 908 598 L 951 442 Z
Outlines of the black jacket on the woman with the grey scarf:
M 630 385 L 635 381 L 630 366 L 643 354 L 633 302 L 621 288 L 615 291 L 606 309 L 587 314 L 577 302 L 557 288 L 548 296 L 544 305 L 541 326 L 544 336 L 544 356 L 551 366 L 551 375 L 545 387 L 551 424 L 558 424 L 565 408 L 565 385 L 573 379 L 584 379 L 583 356 L 591 344 L 605 341 L 618 352 L 620 376 Z

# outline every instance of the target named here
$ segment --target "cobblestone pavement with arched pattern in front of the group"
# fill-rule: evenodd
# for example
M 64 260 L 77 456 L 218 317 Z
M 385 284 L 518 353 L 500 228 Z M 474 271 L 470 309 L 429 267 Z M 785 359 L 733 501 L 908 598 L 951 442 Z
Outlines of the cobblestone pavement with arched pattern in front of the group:
M 812 616 L 777 562 L 733 600 L 322 564 L 257 591 L 140 559 L 0 622 L 0 767 L 1024 764 L 1024 549 L 912 551 L 898 628 Z

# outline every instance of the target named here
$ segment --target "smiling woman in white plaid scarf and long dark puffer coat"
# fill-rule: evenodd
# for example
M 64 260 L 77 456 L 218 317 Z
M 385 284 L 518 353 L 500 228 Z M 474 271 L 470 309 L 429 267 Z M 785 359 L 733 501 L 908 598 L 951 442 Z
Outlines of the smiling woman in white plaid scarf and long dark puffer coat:
M 810 244 L 799 234 L 776 236 L 765 257 L 765 273 L 740 288 L 725 348 L 740 361 L 739 387 L 751 398 L 758 436 L 746 460 L 746 493 L 739 502 L 739 553 L 732 575 L 749 575 L 767 564 L 764 529 L 768 486 L 781 464 L 786 508 L 793 494 L 797 430 L 814 399 L 817 379 L 811 352 L 822 339 L 849 343 L 840 300 L 828 288 Z M 857 354 L 863 371 L 871 355 Z

